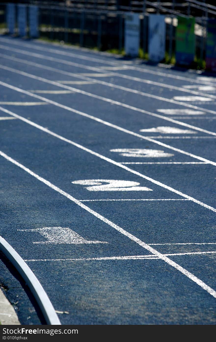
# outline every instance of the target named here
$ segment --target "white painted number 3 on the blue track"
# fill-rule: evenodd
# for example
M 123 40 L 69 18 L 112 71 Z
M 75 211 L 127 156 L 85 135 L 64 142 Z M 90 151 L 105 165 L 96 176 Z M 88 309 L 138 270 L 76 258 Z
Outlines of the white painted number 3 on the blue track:
M 162 158 L 174 156 L 174 154 L 164 153 L 162 150 L 146 148 L 114 148 L 110 152 L 118 152 L 120 156 L 124 157 Z

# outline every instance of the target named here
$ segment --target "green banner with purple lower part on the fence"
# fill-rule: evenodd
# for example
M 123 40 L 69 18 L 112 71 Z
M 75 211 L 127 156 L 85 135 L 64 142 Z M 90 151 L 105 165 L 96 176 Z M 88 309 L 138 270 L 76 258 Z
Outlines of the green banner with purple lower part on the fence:
M 178 16 L 176 27 L 176 52 L 177 64 L 188 65 L 193 62 L 195 56 L 195 18 L 183 18 Z

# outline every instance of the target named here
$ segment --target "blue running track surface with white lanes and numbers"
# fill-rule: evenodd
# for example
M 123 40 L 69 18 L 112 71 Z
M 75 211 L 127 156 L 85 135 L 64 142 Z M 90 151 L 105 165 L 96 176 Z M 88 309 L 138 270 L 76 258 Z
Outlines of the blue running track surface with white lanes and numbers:
M 4 36 L 0 50 L 0 234 L 61 323 L 215 324 L 216 80 Z M 4 265 L 0 280 L 40 324 Z

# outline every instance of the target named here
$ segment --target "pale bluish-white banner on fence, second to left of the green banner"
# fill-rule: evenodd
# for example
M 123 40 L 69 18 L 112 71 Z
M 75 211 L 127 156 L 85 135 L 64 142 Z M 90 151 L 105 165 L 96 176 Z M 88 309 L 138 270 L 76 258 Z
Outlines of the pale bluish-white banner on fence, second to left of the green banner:
M 138 56 L 140 47 L 140 18 L 138 13 L 127 13 L 125 18 L 126 55 Z

